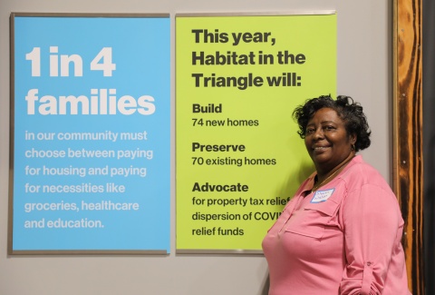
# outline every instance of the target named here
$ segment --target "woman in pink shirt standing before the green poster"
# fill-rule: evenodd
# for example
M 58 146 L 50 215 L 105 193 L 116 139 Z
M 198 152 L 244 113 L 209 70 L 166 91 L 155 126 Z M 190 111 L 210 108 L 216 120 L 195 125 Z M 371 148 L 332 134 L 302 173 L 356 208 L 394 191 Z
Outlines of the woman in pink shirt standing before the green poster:
M 411 294 L 397 198 L 355 155 L 371 143 L 362 106 L 320 96 L 293 114 L 315 172 L 263 241 L 269 295 Z

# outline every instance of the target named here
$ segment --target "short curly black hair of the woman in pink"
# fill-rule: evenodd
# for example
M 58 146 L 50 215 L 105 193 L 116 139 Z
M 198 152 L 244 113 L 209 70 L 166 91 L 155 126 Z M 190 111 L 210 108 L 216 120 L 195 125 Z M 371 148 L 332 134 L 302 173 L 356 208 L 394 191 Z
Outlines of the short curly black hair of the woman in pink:
M 355 152 L 370 146 L 370 134 L 372 132 L 365 114 L 362 113 L 362 106 L 360 103 L 353 102 L 352 97 L 345 95 L 337 96 L 336 100 L 333 100 L 331 95 L 322 95 L 308 99 L 304 104 L 297 106 L 293 112 L 293 117 L 299 125 L 297 133 L 301 138 L 305 138 L 308 121 L 315 112 L 323 108 L 330 108 L 337 112 L 345 124 L 347 133 L 356 135 Z

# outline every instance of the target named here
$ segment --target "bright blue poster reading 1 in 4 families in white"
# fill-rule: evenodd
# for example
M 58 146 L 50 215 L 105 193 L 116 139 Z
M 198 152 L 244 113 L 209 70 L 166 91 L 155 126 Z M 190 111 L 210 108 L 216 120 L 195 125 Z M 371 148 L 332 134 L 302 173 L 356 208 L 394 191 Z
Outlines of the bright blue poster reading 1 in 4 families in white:
M 13 22 L 12 252 L 169 253 L 169 15 Z

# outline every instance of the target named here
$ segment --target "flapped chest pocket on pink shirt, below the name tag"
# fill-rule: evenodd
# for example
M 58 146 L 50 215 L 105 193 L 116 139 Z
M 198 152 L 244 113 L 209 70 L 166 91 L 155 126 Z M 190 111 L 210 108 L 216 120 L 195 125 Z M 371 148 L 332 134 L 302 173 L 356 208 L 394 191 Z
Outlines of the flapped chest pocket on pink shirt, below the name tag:
M 289 222 L 285 231 L 320 240 L 324 236 L 324 228 L 331 225 L 330 221 L 336 215 L 339 205 L 331 199 L 308 203 L 298 212 L 298 216 Z

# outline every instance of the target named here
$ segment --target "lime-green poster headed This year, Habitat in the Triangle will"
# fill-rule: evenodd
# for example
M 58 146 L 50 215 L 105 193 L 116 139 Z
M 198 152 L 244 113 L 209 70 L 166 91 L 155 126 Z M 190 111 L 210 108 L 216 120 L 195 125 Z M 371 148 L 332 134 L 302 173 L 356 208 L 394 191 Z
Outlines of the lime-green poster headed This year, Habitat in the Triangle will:
M 314 171 L 295 106 L 336 92 L 336 15 L 176 15 L 177 252 L 261 252 Z

